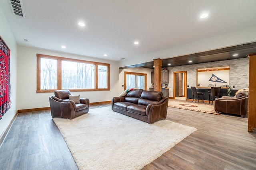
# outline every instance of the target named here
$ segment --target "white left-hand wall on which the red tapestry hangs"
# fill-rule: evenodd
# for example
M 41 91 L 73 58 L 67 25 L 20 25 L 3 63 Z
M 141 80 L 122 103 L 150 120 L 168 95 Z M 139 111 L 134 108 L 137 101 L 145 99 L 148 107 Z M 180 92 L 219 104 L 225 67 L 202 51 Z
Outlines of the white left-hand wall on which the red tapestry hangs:
M 17 70 L 16 70 L 16 60 L 17 60 L 17 45 L 16 41 L 12 35 L 10 26 L 8 24 L 8 21 L 4 17 L 4 13 L 2 11 L 2 8 L 0 7 L 0 21 L 1 21 L 1 26 L 0 26 L 0 36 L 8 45 L 9 49 L 11 50 L 10 52 L 10 83 L 11 83 L 11 108 L 4 114 L 2 119 L 0 120 L 0 136 L 4 132 L 4 130 L 8 127 L 10 124 L 10 121 L 14 117 L 17 108 L 17 99 L 16 99 L 16 78 L 17 78 Z

